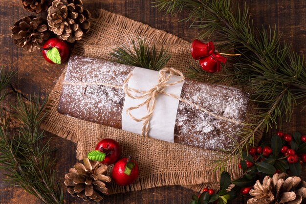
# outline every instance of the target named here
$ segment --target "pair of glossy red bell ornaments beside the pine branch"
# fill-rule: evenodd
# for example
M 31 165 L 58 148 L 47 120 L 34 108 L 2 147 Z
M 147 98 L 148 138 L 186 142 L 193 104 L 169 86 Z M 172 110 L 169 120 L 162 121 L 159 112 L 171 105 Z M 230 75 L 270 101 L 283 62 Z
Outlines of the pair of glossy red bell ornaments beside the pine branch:
M 203 70 L 210 73 L 220 71 L 220 63 L 226 62 L 225 57 L 222 57 L 218 52 L 215 52 L 213 42 L 205 44 L 199 40 L 194 40 L 191 45 L 191 55 L 195 60 L 200 60 L 199 63 Z

